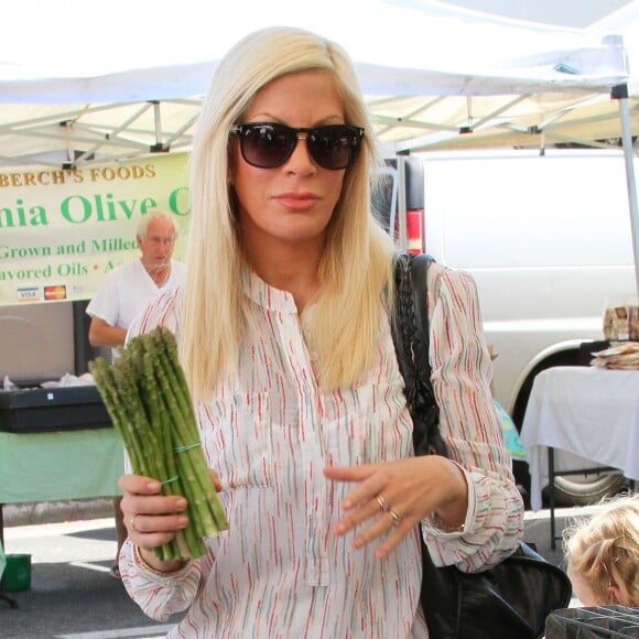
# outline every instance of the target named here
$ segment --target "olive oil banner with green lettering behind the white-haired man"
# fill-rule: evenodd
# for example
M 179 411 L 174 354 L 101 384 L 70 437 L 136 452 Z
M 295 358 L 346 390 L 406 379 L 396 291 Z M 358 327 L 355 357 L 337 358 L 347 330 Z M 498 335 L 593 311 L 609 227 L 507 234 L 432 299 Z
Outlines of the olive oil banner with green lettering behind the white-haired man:
M 170 212 L 184 254 L 186 154 L 77 169 L 0 169 L 0 305 L 88 300 L 105 275 L 140 254 L 136 228 Z

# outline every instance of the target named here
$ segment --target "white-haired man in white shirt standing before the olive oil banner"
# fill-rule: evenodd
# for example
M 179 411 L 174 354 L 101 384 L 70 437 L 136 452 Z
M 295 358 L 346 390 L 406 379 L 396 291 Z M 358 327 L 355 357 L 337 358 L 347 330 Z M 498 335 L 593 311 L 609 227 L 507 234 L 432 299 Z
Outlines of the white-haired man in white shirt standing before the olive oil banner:
M 133 318 L 144 310 L 147 302 L 161 289 L 184 282 L 185 267 L 171 259 L 177 227 L 173 216 L 150 212 L 140 219 L 136 238 L 142 256 L 113 269 L 105 279 L 87 306 L 91 317 L 91 346 L 111 347 L 113 357 L 124 345 L 127 331 Z M 111 574 L 119 577 L 118 556 L 127 539 L 127 529 L 120 510 L 121 497 L 113 497 L 118 550 Z

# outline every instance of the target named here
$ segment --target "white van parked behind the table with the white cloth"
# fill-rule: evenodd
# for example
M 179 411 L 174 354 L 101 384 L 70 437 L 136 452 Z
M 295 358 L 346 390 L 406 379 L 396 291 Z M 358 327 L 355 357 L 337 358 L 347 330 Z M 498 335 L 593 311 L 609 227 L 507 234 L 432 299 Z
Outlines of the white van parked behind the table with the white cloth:
M 475 278 L 497 355 L 495 398 L 519 427 L 534 376 L 583 364 L 582 343 L 604 339 L 607 303 L 637 299 L 622 154 L 501 151 L 408 160 L 407 208 L 423 207 L 425 251 Z M 597 497 L 609 481 L 560 479 L 573 502 Z

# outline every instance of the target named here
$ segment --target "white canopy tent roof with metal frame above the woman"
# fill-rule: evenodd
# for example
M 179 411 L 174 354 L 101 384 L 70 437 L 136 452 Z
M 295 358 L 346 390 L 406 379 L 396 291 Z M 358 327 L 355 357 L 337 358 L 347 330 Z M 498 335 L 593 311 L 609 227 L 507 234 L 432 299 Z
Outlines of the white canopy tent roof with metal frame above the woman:
M 537 12 L 518 15 L 526 4 Z M 391 151 L 622 139 L 639 263 L 639 86 L 625 46 L 639 40 L 639 0 L 22 0 L 2 14 L 8 170 L 188 150 L 219 57 L 254 29 L 294 24 L 348 50 Z

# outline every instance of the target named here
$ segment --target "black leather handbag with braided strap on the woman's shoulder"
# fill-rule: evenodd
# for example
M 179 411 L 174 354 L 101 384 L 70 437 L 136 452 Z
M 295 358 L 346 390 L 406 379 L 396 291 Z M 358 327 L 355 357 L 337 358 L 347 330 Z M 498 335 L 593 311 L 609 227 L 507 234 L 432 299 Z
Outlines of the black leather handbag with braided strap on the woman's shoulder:
M 432 261 L 424 254 L 398 254 L 394 272 L 392 333 L 415 455 L 446 455 L 429 362 L 426 275 Z M 422 540 L 422 562 L 421 604 L 431 639 L 538 639 L 550 613 L 571 600 L 566 574 L 526 543 L 497 566 L 469 574 L 436 567 Z

